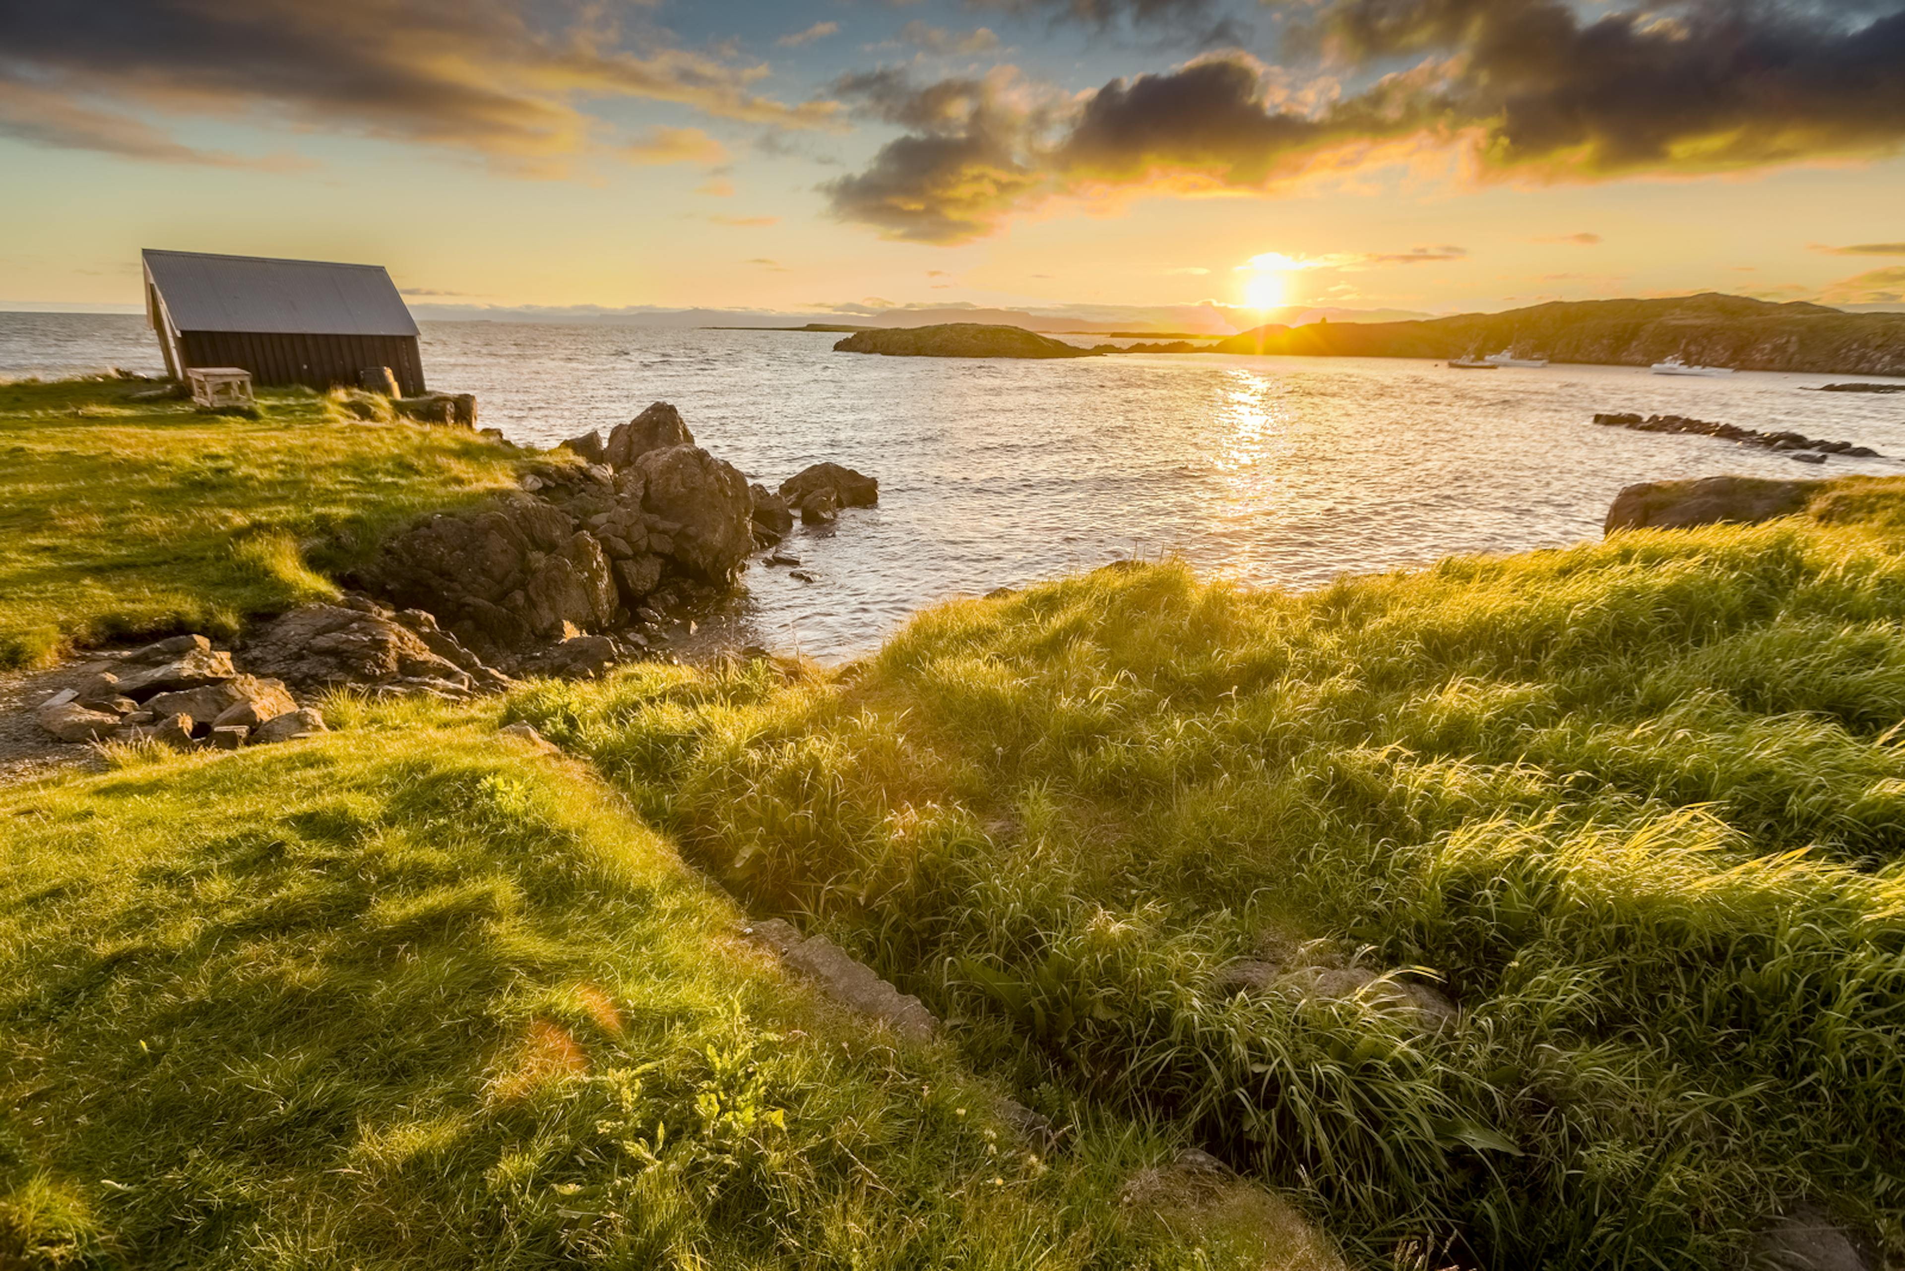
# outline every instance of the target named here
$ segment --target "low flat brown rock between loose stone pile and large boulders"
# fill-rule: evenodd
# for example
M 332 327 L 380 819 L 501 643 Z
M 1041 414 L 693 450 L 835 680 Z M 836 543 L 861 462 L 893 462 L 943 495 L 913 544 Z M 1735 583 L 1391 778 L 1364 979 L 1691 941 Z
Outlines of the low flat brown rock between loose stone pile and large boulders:
M 259 675 L 303 692 L 417 676 L 471 682 L 461 667 L 389 615 L 339 604 L 307 604 L 278 617 L 246 642 L 244 659 Z

